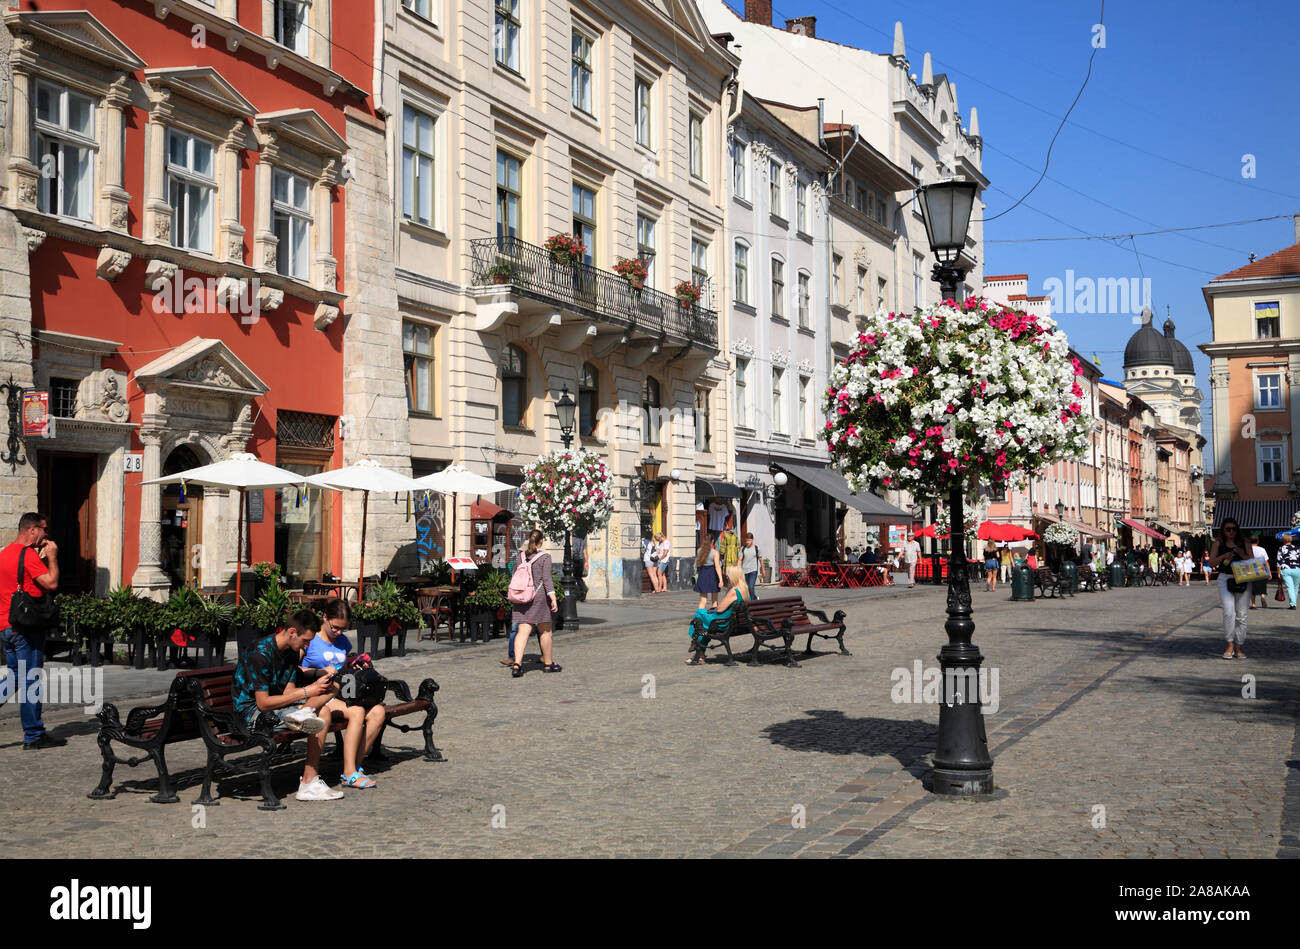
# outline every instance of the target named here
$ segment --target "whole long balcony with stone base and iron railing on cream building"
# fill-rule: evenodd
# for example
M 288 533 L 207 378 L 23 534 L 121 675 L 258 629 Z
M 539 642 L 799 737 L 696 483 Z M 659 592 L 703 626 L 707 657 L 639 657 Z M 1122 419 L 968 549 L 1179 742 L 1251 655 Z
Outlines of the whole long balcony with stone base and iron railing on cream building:
M 517 238 L 469 243 L 480 330 L 495 330 L 519 313 L 530 324 L 536 321 L 534 332 L 555 325 L 575 328 L 576 344 L 597 337 L 608 341 L 608 348 L 654 341 L 646 347 L 649 352 L 658 351 L 662 343 L 692 346 L 705 355 L 718 352 L 716 311 L 699 304 L 684 307 L 676 296 L 649 287 L 634 290 L 612 270 L 556 263 L 546 248 Z M 542 306 L 508 299 L 516 295 Z

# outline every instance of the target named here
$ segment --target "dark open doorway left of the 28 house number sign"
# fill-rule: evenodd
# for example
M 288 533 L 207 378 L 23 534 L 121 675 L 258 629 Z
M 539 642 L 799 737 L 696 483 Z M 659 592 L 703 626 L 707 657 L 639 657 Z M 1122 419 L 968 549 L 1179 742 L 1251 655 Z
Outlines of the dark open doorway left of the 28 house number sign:
M 58 545 L 60 592 L 95 593 L 99 458 L 43 451 L 36 477 L 38 504 L 49 517 L 47 533 Z

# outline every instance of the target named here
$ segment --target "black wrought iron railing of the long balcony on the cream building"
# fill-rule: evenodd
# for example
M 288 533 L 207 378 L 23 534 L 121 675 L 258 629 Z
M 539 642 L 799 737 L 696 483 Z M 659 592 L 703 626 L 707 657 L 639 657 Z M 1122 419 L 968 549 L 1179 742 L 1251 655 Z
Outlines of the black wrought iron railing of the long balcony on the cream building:
M 519 238 L 471 240 L 476 285 L 508 283 L 534 299 L 650 335 L 718 348 L 718 312 L 676 296 L 636 290 L 624 277 L 590 264 L 563 264 Z

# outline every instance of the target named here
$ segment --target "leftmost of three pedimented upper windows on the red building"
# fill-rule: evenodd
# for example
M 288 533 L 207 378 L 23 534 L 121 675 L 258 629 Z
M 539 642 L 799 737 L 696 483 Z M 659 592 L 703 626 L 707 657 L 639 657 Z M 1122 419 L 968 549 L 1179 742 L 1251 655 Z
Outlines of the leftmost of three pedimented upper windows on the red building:
M 91 218 L 95 188 L 95 101 L 36 81 L 38 207 L 47 214 Z

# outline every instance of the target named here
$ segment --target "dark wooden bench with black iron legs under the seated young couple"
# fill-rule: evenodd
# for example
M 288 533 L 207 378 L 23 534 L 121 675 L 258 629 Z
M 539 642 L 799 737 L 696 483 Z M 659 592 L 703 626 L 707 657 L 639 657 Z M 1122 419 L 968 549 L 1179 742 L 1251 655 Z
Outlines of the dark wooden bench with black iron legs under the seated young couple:
M 99 750 L 104 758 L 103 775 L 95 789 L 86 797 L 95 800 L 114 797 L 112 784 L 116 764 L 134 768 L 144 760 L 152 760 L 157 768 L 159 792 L 150 801 L 176 803 L 181 798 L 177 797 L 173 779 L 168 774 L 166 746 L 179 741 L 202 738 L 208 748 L 208 760 L 203 772 L 203 790 L 195 803 L 216 803 L 211 794 L 212 775 L 216 770 L 257 771 L 263 796 L 260 810 L 281 810 L 283 805 L 280 803 L 280 798 L 270 785 L 270 768 L 292 758 L 292 742 L 307 736 L 291 729 L 276 731 L 277 718 L 268 712 L 263 712 L 256 724 L 250 727 L 243 716 L 234 711 L 231 696 L 234 671 L 234 666 L 218 666 L 178 672 L 172 680 L 172 688 L 162 705 L 133 708 L 126 716 L 125 725 L 117 707 L 105 702 L 96 715 L 100 722 Z M 420 692 L 415 698 L 411 698 L 411 689 L 402 680 L 390 679 L 386 685 L 387 690 L 399 701 L 384 706 L 384 727 L 393 725 L 403 733 L 420 728 L 424 733 L 424 759 L 443 760 L 442 753 L 433 744 L 433 723 L 438 718 L 434 693 L 438 692 L 438 684 L 432 679 L 425 679 L 420 682 Z M 425 716 L 420 725 L 407 725 L 393 720 L 421 711 Z M 338 733 L 343 725 L 343 714 L 333 712 L 329 731 Z M 342 742 L 342 736 L 337 734 L 337 737 Z M 384 732 L 381 731 L 370 750 L 370 755 L 381 760 L 384 759 L 382 738 Z M 135 758 L 121 758 L 113 751 L 112 744 L 114 741 L 144 754 Z M 243 762 L 225 760 L 228 755 L 255 750 L 259 754 Z

